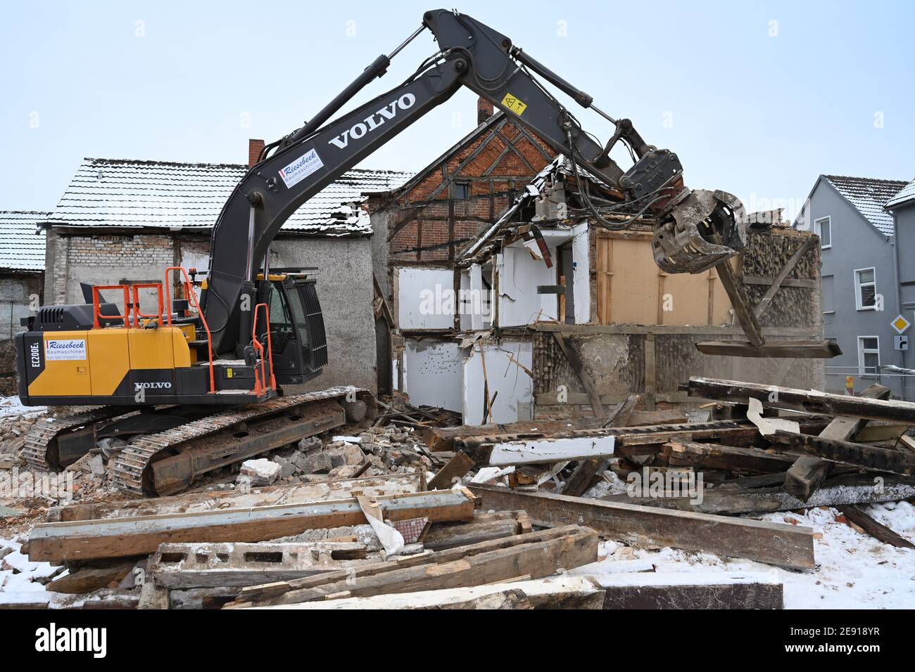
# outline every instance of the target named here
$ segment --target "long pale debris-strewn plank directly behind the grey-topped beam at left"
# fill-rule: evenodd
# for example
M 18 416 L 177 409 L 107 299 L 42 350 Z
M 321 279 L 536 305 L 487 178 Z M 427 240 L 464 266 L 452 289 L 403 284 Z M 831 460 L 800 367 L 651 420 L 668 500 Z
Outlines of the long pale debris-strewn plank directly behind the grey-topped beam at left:
M 425 474 L 396 474 L 369 478 L 343 478 L 298 485 L 272 485 L 249 492 L 187 493 L 151 499 L 135 499 L 100 504 L 74 504 L 48 509 L 48 522 L 96 520 L 128 516 L 165 516 L 222 508 L 270 507 L 279 504 L 349 499 L 360 490 L 370 496 L 406 495 L 425 490 Z

